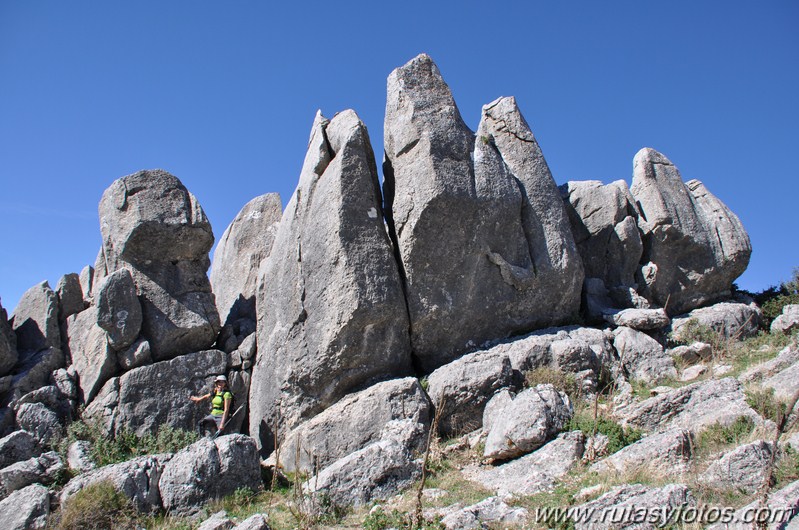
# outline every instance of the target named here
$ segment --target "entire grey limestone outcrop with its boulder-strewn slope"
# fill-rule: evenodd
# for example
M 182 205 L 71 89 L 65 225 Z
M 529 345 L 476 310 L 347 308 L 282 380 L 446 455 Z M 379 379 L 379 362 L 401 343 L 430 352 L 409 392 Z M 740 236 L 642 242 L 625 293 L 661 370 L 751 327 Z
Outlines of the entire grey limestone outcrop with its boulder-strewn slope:
M 110 481 L 142 512 L 193 514 L 262 489 L 262 466 L 328 509 L 407 510 L 395 495 L 446 439 L 440 461 L 483 494 L 426 493 L 448 528 L 541 524 L 535 503 L 580 481 L 564 507 L 676 509 L 713 490 L 738 509 L 769 491 L 796 454 L 765 403 L 799 388 L 799 323 L 795 306 L 774 321 L 788 346 L 767 362 L 741 345 L 761 314 L 731 295 L 751 253 L 735 214 L 649 148 L 629 187 L 558 188 L 516 101 L 470 131 L 426 55 L 387 93 L 382 188 L 358 116 L 318 114 L 285 211 L 274 194 L 248 203 L 210 280 L 210 224 L 175 176 L 103 193 L 94 267 L 0 308 L 0 513 L 24 505 L 14 524 L 39 528 Z M 241 406 L 227 432 L 249 436 L 99 469 L 80 444 L 67 462 L 48 452 L 79 411 L 110 438 L 191 430 L 207 411 L 187 397 L 218 374 Z

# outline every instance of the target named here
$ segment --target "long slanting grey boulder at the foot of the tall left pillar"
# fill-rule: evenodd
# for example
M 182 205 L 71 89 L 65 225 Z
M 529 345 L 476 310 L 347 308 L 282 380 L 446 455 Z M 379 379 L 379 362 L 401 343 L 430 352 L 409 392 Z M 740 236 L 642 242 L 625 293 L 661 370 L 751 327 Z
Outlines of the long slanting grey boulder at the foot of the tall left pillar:
M 413 377 L 377 383 L 350 394 L 292 430 L 280 446 L 280 465 L 289 472 L 312 472 L 377 441 L 386 423 L 410 419 L 425 426 L 416 440 L 424 447 L 430 401 Z

